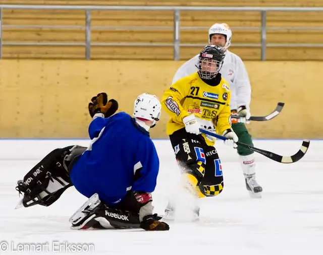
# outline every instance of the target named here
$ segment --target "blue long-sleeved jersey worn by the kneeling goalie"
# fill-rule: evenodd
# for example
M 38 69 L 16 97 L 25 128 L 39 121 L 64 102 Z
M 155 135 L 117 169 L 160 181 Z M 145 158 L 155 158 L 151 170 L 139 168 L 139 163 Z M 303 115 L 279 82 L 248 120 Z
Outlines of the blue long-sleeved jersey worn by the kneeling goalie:
M 84 196 L 94 193 L 107 205 L 122 200 L 128 190 L 151 193 L 159 160 L 149 133 L 125 112 L 97 117 L 89 125 L 91 144 L 74 164 L 70 176 Z

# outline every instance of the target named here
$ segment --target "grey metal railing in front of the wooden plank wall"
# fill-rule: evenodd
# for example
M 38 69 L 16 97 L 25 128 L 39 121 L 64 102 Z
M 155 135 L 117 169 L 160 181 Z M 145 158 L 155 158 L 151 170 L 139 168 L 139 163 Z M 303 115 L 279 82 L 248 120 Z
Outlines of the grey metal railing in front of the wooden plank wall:
M 3 28 L 6 27 L 28 27 L 28 25 L 3 25 L 3 10 L 4 9 L 41 9 L 41 10 L 83 10 L 85 11 L 85 26 L 41 26 L 41 25 L 29 25 L 29 27 L 47 27 L 47 28 L 62 28 L 62 29 L 73 29 L 73 28 L 85 28 L 84 43 L 79 42 L 3 42 L 2 34 Z M 173 30 L 173 43 L 138 43 L 138 42 L 120 42 L 120 43 L 109 43 L 109 42 L 91 42 L 91 31 L 93 29 L 111 29 L 112 27 L 103 26 L 91 26 L 91 11 L 93 10 L 119 10 L 119 11 L 173 11 L 174 12 L 174 25 L 171 27 Z M 174 60 L 180 59 L 180 47 L 190 46 L 204 46 L 205 44 L 188 44 L 180 42 L 180 30 L 190 29 L 192 27 L 181 27 L 180 18 L 181 11 L 249 11 L 249 12 L 260 12 L 261 13 L 261 26 L 260 26 L 260 43 L 238 43 L 233 44 L 235 47 L 261 47 L 261 60 L 266 59 L 266 48 L 267 47 L 323 47 L 323 43 L 295 43 L 295 44 L 284 44 L 284 43 L 267 43 L 266 41 L 266 14 L 267 12 L 273 11 L 284 11 L 284 12 L 323 12 L 323 8 L 320 7 L 169 7 L 169 6 L 50 6 L 50 5 L 0 5 L 0 58 L 2 58 L 3 45 L 78 45 L 85 46 L 85 59 L 91 58 L 91 46 L 172 46 L 174 51 Z M 323 15 L 323 13 L 322 13 Z M 215 21 L 214 21 L 215 22 Z M 129 29 L 129 26 L 123 28 Z M 170 27 L 138 27 L 135 28 L 141 30 L 147 29 L 170 29 Z M 194 27 L 194 29 L 205 29 L 208 27 Z M 244 28 L 250 29 L 250 28 Z M 259 28 L 251 28 L 258 29 Z M 279 28 L 270 28 L 279 29 Z M 286 29 L 286 28 L 282 28 Z M 295 29 L 295 28 L 293 28 Z M 302 30 L 304 28 L 296 28 Z M 315 29 L 322 29 L 320 27 Z M 205 32 L 206 33 L 206 32 Z

